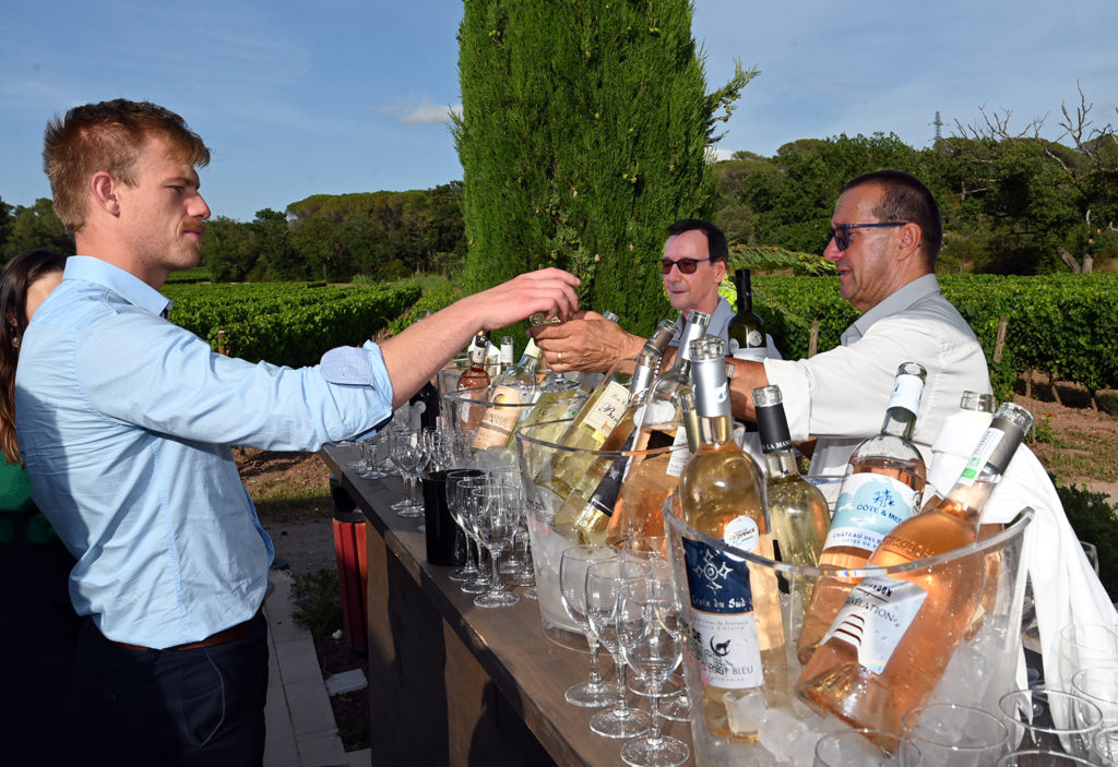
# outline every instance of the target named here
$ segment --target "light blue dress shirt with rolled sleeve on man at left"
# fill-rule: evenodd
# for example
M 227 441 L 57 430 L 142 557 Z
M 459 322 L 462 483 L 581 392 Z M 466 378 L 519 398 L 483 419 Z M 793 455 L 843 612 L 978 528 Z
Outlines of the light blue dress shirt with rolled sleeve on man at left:
M 168 305 L 133 275 L 72 257 L 16 376 L 35 501 L 78 559 L 74 606 L 105 636 L 150 648 L 200 641 L 264 598 L 272 541 L 230 444 L 318 450 L 392 412 L 373 344 L 314 367 L 254 365 L 163 319 Z

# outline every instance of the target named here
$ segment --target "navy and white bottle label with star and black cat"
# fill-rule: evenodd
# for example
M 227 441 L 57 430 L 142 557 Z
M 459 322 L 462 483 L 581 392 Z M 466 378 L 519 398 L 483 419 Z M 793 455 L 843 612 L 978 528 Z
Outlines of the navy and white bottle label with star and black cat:
M 691 594 L 691 639 L 703 684 L 743 689 L 765 683 L 746 562 L 683 538 Z

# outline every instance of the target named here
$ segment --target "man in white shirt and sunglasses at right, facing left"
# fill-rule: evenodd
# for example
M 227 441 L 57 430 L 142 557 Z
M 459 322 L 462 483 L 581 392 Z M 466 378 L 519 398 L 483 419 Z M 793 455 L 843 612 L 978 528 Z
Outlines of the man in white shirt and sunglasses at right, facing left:
M 823 251 L 839 271 L 840 295 L 862 316 L 841 345 L 808 359 L 733 361 L 733 413 L 756 419 L 751 392 L 779 385 L 792 437 L 816 438 L 812 473 L 841 474 L 851 451 L 878 433 L 897 368 L 928 371 L 913 441 L 931 459 L 944 419 L 964 391 L 989 392 L 978 339 L 939 293 L 939 208 L 928 188 L 900 171 L 860 175 L 843 190 Z

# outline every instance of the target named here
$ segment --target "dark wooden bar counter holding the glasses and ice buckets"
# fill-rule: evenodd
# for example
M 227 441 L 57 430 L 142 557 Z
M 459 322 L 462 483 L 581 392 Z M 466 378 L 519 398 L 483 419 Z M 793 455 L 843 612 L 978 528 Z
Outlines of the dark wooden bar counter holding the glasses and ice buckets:
M 548 640 L 531 600 L 474 606 L 447 578 L 452 568 L 426 562 L 418 520 L 389 508 L 399 479 L 358 477 L 345 468 L 354 448 L 320 456 L 368 519 L 372 764 L 620 765 L 624 741 L 590 732 L 597 709 L 563 700 L 586 680 L 589 655 Z M 691 742 L 686 723 L 665 721 L 664 731 Z

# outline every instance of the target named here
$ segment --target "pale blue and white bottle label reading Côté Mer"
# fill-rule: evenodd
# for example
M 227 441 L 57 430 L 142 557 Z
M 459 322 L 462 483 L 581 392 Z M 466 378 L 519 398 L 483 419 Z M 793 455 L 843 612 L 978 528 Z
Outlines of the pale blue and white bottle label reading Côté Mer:
M 892 477 L 864 471 L 842 482 L 824 548 L 851 546 L 872 552 L 911 517 L 920 493 Z

